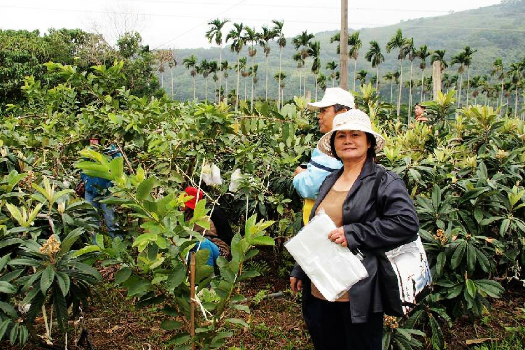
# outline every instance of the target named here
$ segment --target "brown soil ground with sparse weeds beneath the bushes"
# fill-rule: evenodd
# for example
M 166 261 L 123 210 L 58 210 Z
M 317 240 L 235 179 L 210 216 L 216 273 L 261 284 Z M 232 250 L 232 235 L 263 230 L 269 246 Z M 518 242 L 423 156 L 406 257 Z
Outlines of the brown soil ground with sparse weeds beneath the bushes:
M 285 291 L 288 279 L 278 278 L 277 267 L 272 264 L 271 252 L 263 252 L 259 258 L 267 261 L 270 271 L 241 285 L 241 292 L 248 298 L 265 289 L 268 293 Z M 106 275 L 108 281 L 111 272 Z M 453 327 L 443 324 L 448 349 L 472 349 L 467 340 L 501 338 L 505 327 L 525 326 L 525 289 L 514 283 L 506 286 L 508 293 L 499 300 L 492 300 L 492 311 L 472 324 L 467 319 L 456 320 Z M 125 290 L 114 288 L 111 283 L 99 288 L 101 300 L 86 310 L 84 320 L 89 330 L 93 348 L 96 350 L 161 350 L 173 335 L 161 329 L 163 315 L 156 307 L 134 310 L 131 300 L 125 298 Z M 237 346 L 246 350 L 313 349 L 309 344 L 308 331 L 302 320 L 300 300 L 285 293 L 279 298 L 265 299 L 250 305 L 251 314 L 234 312 L 230 316 L 242 317 L 249 328 L 229 326 L 234 336 L 227 347 Z M 69 341 L 74 338 L 74 325 L 70 324 Z M 43 334 L 43 325 L 37 325 Z M 55 332 L 56 333 L 56 332 Z M 490 340 L 486 340 L 490 342 Z M 68 342 L 70 343 L 70 342 Z M 62 345 L 60 345 L 62 344 Z M 55 346 L 64 349 L 64 336 L 55 340 Z M 43 349 L 27 344 L 24 350 Z M 68 345 L 68 349 L 74 349 Z M 87 347 L 86 347 L 87 348 Z M 5 343 L 0 349 L 16 349 Z M 427 346 L 427 349 L 429 347 Z

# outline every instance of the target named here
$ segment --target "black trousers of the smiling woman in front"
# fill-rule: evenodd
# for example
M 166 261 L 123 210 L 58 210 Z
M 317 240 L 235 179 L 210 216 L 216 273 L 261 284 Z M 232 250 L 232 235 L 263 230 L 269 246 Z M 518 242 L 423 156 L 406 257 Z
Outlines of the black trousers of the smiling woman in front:
M 310 298 L 303 312 L 316 350 L 382 350 L 383 313 L 352 323 L 349 302 Z

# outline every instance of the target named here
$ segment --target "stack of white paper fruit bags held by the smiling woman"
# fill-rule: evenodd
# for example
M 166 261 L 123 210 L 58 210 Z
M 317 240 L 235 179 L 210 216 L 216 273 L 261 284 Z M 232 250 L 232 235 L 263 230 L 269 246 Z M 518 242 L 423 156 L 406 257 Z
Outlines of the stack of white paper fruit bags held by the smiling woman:
M 328 239 L 336 229 L 332 219 L 319 213 L 285 247 L 328 301 L 339 299 L 352 285 L 368 277 L 361 261 L 346 247 Z

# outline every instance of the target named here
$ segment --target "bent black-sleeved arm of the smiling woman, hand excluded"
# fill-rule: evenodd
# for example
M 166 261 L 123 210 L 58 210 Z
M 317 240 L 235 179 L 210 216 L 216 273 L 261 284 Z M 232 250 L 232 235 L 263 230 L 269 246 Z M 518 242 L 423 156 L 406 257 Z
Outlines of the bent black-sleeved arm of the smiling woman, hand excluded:
M 417 234 L 419 220 L 403 180 L 394 178 L 385 186 L 380 186 L 378 192 L 381 194 L 379 203 L 384 207 L 380 217 L 370 222 L 343 226 L 348 248 L 395 246 Z

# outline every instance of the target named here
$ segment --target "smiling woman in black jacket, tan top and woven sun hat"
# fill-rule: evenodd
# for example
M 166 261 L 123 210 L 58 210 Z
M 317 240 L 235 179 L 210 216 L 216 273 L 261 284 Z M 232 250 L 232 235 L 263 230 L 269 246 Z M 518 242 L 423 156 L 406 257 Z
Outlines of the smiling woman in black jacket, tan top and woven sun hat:
M 341 160 L 343 167 L 324 180 L 310 218 L 324 209 L 338 227 L 328 238 L 362 252 L 369 277 L 329 302 L 299 266 L 293 269 L 290 287 L 294 292 L 303 290 L 303 315 L 318 350 L 382 348 L 386 300 L 398 291 L 385 290 L 379 275 L 380 254 L 374 251 L 414 240 L 419 230 L 404 182 L 376 165 L 376 152 L 384 144 L 383 136 L 372 130 L 369 116 L 359 110 L 335 116 L 332 131 L 319 141 L 321 152 Z

